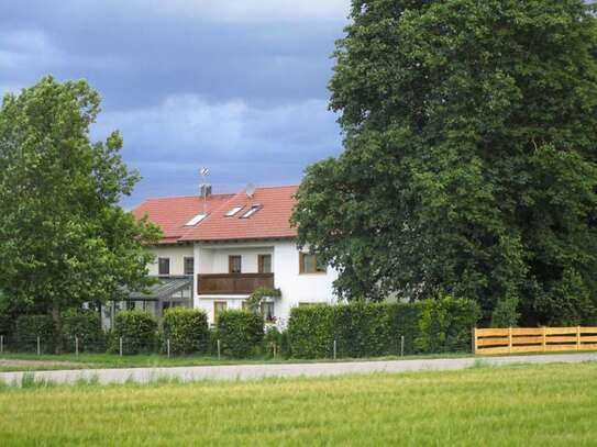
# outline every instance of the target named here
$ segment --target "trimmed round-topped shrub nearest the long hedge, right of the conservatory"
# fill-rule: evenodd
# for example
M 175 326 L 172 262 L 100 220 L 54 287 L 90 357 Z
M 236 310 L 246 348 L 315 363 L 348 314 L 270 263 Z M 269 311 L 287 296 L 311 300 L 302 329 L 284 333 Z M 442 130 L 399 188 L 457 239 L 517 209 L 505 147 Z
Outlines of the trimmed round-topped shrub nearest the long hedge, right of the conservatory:
M 246 311 L 223 311 L 218 316 L 218 335 L 224 356 L 251 357 L 257 353 L 263 342 L 263 316 Z

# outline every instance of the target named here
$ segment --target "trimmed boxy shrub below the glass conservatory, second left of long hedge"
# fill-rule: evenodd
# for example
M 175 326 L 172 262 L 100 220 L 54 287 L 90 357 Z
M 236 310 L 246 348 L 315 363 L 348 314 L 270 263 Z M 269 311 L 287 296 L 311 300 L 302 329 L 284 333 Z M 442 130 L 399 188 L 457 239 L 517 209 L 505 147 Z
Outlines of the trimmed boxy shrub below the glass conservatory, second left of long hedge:
M 204 353 L 208 337 L 208 317 L 203 311 L 173 308 L 164 314 L 164 338 L 170 340 L 170 353 Z

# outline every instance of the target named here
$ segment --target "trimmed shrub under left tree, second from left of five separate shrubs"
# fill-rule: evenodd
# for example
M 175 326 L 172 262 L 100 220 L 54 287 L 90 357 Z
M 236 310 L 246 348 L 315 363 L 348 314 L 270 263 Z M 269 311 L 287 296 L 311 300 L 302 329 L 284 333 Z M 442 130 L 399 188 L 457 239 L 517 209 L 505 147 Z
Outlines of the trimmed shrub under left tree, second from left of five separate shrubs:
M 63 342 L 67 351 L 101 351 L 106 348 L 106 336 L 100 315 L 91 310 L 69 310 L 63 315 Z

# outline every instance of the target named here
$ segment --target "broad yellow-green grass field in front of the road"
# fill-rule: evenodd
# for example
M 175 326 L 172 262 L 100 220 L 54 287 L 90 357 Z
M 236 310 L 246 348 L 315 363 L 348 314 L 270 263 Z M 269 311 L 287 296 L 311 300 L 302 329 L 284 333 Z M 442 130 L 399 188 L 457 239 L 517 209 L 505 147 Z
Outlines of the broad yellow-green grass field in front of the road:
M 0 389 L 3 446 L 595 445 L 597 364 Z

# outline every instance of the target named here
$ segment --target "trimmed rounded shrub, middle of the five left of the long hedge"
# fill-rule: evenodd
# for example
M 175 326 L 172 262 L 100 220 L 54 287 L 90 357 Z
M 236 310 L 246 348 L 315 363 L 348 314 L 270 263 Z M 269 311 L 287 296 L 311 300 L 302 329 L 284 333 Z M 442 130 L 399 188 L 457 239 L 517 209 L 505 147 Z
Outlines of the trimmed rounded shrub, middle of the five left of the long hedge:
M 151 353 L 156 348 L 157 323 L 147 312 L 121 311 L 114 320 L 111 350 L 119 350 L 122 337 L 123 354 Z

